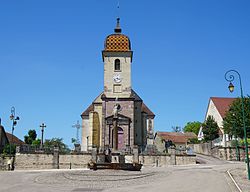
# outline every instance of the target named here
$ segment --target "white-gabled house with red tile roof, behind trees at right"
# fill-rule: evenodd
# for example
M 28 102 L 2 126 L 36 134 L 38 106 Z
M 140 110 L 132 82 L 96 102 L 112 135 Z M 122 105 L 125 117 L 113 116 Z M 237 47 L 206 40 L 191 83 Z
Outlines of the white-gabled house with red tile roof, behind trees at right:
M 226 116 L 226 112 L 235 100 L 236 98 L 226 97 L 210 97 L 209 99 L 205 120 L 208 116 L 213 116 L 214 120 L 217 122 L 221 138 L 218 145 L 226 146 L 226 142 L 228 141 L 228 135 L 226 135 L 223 130 L 223 118 Z M 203 138 L 202 127 L 199 130 L 198 137 L 200 140 Z

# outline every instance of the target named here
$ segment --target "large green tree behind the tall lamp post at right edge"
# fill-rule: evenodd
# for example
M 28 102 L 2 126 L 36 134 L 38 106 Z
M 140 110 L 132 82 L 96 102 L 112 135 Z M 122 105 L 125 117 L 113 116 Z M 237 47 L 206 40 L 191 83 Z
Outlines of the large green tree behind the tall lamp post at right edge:
M 250 99 L 244 98 L 244 113 L 245 123 L 248 133 L 250 136 Z M 239 138 L 244 138 L 243 129 L 243 118 L 242 118 L 242 100 L 241 98 L 236 99 L 226 112 L 226 116 L 223 119 L 223 128 L 225 133 L 234 135 Z

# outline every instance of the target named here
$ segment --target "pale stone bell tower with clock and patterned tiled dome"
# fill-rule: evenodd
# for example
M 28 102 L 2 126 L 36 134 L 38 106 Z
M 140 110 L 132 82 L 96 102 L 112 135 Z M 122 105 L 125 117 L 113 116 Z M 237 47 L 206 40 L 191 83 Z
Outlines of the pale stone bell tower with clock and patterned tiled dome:
M 108 98 L 128 98 L 131 95 L 133 52 L 129 38 L 121 33 L 120 18 L 117 18 L 114 32 L 105 39 L 102 51 L 104 94 Z

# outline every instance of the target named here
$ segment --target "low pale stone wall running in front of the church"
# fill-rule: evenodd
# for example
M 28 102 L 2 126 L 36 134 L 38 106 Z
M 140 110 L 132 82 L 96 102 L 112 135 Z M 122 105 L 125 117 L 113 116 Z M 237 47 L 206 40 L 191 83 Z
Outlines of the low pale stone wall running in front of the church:
M 91 154 L 59 155 L 58 165 L 54 154 L 17 154 L 15 169 L 80 169 L 87 168 Z M 126 163 L 133 163 L 133 155 L 125 156 Z M 146 167 L 164 167 L 168 165 L 195 164 L 195 155 L 139 155 L 139 163 Z

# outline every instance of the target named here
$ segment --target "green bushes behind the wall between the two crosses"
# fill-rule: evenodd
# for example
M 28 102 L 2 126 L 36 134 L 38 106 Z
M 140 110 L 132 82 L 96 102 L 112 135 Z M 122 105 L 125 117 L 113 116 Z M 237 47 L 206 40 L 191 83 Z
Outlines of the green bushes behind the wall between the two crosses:
M 59 147 L 59 151 L 61 153 L 69 153 L 70 149 L 69 147 L 63 143 L 62 138 L 52 138 L 52 139 L 46 139 L 44 142 L 44 148 L 53 149 L 54 147 Z

